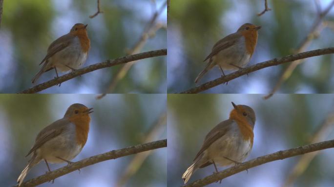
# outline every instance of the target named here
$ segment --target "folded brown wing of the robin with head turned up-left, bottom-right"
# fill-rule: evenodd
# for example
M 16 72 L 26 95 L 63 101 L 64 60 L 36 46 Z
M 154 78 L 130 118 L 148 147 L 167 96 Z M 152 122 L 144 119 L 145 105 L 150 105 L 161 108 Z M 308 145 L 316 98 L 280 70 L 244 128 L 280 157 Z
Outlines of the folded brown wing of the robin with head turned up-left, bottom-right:
M 201 150 L 198 151 L 194 160 L 196 160 L 205 150 L 207 150 L 213 142 L 224 136 L 227 131 L 230 130 L 230 126 L 232 123 L 234 122 L 231 119 L 225 120 L 223 122 L 220 122 L 218 125 L 216 125 L 216 127 L 209 131 L 209 133 L 205 137 Z

